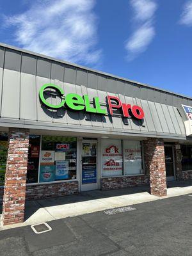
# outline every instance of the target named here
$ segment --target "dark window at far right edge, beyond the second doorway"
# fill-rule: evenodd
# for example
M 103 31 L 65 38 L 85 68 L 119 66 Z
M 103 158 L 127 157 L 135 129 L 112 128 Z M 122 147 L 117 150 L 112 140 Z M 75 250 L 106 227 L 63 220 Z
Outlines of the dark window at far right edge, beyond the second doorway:
M 192 170 L 192 145 L 180 145 L 182 154 L 182 170 Z

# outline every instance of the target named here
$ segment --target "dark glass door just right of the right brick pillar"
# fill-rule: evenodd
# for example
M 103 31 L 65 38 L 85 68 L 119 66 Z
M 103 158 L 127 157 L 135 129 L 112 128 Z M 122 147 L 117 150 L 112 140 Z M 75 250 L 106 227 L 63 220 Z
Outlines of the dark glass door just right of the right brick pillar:
M 175 159 L 172 145 L 164 145 L 166 180 L 175 180 Z

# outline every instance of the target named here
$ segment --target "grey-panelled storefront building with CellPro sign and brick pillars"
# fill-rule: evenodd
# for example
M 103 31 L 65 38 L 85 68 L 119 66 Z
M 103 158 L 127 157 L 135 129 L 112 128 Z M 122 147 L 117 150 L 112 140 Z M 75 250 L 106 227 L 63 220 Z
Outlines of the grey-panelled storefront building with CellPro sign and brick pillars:
M 26 200 L 192 179 L 192 99 L 0 44 L 4 225 Z

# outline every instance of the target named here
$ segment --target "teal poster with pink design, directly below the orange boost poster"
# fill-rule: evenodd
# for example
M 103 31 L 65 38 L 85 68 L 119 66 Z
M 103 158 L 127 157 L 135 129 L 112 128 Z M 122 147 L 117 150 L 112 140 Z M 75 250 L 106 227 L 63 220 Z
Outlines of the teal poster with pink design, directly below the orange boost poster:
M 41 165 L 40 166 L 40 182 L 49 182 L 54 181 L 54 172 L 55 166 L 54 165 Z

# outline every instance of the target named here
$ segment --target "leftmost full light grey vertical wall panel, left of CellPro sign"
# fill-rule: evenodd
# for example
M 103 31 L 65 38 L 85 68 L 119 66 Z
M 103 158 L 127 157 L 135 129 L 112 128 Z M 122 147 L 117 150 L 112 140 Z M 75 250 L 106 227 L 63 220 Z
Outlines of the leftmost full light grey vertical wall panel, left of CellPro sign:
M 20 100 L 20 73 L 4 69 L 1 116 L 18 119 Z

